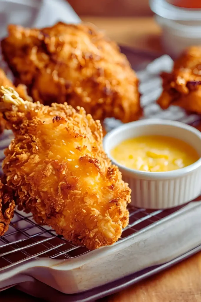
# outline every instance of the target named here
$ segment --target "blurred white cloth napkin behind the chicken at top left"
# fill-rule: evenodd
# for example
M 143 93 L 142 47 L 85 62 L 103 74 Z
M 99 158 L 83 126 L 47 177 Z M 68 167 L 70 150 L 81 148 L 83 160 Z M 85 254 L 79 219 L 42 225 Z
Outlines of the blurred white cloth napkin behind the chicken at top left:
M 0 0 L 0 38 L 6 35 L 6 27 L 11 23 L 46 27 L 58 21 L 80 22 L 66 0 Z

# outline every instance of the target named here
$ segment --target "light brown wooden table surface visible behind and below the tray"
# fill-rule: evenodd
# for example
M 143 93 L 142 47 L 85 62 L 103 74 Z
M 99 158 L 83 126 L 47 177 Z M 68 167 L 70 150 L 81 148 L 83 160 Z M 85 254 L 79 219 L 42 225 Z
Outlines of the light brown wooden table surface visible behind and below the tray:
M 161 31 L 152 18 L 84 17 L 83 21 L 94 23 L 102 28 L 111 39 L 118 43 L 138 49 L 162 52 Z M 39 299 L 8 289 L 0 293 L 0 301 L 39 302 Z M 158 275 L 100 301 L 201 302 L 201 252 Z

